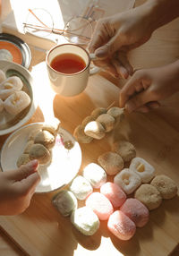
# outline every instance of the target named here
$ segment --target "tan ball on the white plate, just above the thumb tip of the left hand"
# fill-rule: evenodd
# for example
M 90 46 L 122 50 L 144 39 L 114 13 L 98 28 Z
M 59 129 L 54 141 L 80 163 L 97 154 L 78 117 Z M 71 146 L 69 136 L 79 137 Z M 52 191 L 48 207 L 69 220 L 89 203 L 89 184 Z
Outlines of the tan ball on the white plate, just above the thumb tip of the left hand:
M 42 144 L 33 144 L 30 147 L 30 160 L 38 159 L 39 164 L 45 165 L 51 160 L 51 154 L 49 150 Z

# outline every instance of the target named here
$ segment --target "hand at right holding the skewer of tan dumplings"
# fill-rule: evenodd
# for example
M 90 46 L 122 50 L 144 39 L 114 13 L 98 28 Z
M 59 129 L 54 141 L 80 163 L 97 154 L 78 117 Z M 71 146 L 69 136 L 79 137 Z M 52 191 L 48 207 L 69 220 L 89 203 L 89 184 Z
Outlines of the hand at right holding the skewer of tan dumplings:
M 119 105 L 132 111 L 149 112 L 159 100 L 179 90 L 179 61 L 163 67 L 136 71 L 120 91 Z

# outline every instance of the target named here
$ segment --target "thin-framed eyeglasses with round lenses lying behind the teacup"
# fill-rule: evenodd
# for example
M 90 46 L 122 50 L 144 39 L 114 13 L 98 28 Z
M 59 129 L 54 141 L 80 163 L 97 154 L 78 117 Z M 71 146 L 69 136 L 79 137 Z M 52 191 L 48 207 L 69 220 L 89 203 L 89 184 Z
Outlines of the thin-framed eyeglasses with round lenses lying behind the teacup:
M 51 34 L 64 36 L 64 38 L 74 44 L 87 45 L 92 37 L 94 24 L 97 18 L 101 18 L 104 11 L 97 5 L 91 4 L 86 13 L 82 16 L 72 17 L 64 25 L 63 29 L 57 29 L 54 20 L 47 10 L 43 8 L 29 9 L 26 21 L 23 22 L 24 32 L 47 38 Z

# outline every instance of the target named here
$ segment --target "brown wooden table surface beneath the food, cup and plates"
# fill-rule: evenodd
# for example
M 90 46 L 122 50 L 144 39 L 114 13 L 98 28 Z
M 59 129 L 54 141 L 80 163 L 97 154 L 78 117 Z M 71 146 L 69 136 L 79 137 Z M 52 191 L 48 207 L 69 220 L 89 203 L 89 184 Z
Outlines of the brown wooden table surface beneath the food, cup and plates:
M 178 21 L 175 20 L 156 31 L 148 43 L 131 53 L 130 57 L 135 68 L 159 66 L 178 58 Z M 33 67 L 43 61 L 45 55 L 34 52 L 33 48 L 31 51 L 33 56 L 31 67 Z M 38 68 L 43 67 L 39 64 Z M 101 73 L 101 75 L 91 77 L 87 90 L 78 97 L 61 98 L 55 96 L 53 100 L 55 116 L 61 120 L 63 127 L 69 132 L 73 132 L 76 125 L 81 124 L 82 119 L 90 115 L 95 107 L 107 107 L 113 100 L 117 105 L 118 87 L 121 87 L 124 81 L 117 81 L 105 73 Z M 135 145 L 138 156 L 149 160 L 157 168 L 158 174 L 165 173 L 179 184 L 179 95 L 176 94 L 167 99 L 162 106 L 147 115 L 129 115 L 127 117 L 128 124 L 130 124 L 128 138 Z M 43 109 L 40 107 L 30 120 L 31 123 L 37 121 L 43 121 Z M 1 146 L 6 137 L 1 137 Z M 90 145 L 81 144 L 83 156 L 81 169 L 90 162 L 96 162 L 98 155 L 109 149 L 110 136 L 102 141 L 94 141 Z M 80 235 L 72 228 L 69 219 L 62 218 L 52 208 L 50 202 L 52 196 L 53 193 L 35 195 L 30 208 L 20 217 L 0 218 L 0 224 L 6 227 L 7 233 L 5 235 L 1 231 L 1 255 L 21 256 L 26 255 L 27 252 L 30 256 L 46 256 L 50 253 L 57 255 L 56 248 L 59 249 L 58 255 L 63 256 L 100 255 L 102 253 L 104 255 L 110 253 L 113 256 L 176 256 L 179 253 L 177 251 L 179 244 L 178 197 L 164 201 L 160 208 L 151 211 L 149 224 L 139 228 L 132 241 L 124 243 L 108 233 L 105 222 L 102 222 L 96 235 L 90 238 Z M 40 212 L 37 212 L 37 209 Z M 58 226 L 57 229 L 56 225 Z M 31 237 L 32 240 L 28 240 L 28 235 L 25 233 L 26 228 L 29 228 L 30 232 L 34 230 L 34 236 L 37 239 L 36 246 L 34 246 L 35 242 Z M 48 237 L 48 232 L 50 237 Z M 47 243 L 51 243 L 53 248 L 48 248 Z M 44 252 L 39 254 L 39 248 L 43 244 Z

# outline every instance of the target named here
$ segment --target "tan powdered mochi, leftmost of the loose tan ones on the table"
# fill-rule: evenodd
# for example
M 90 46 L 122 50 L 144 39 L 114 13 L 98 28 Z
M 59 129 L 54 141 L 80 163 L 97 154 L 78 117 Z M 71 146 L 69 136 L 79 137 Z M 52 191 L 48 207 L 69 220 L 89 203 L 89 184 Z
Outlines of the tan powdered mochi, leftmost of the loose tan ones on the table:
M 102 166 L 107 175 L 116 175 L 124 167 L 124 160 L 115 152 L 107 152 L 98 157 L 98 164 Z

